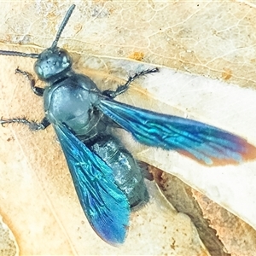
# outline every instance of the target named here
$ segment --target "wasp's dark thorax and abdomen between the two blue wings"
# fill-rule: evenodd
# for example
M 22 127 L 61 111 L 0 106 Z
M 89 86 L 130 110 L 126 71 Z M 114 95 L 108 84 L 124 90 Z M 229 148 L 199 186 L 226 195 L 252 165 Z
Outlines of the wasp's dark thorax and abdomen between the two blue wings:
M 36 68 L 43 66 L 40 61 L 39 58 Z M 48 79 L 49 86 L 44 90 L 46 118 L 51 124 L 67 125 L 80 141 L 112 168 L 115 183 L 125 192 L 131 207 L 143 205 L 149 197 L 137 162 L 113 137 L 111 127 L 116 126 L 113 121 L 95 107 L 102 92 L 90 78 L 74 73 L 71 65 L 67 67 L 65 77 L 53 82 Z

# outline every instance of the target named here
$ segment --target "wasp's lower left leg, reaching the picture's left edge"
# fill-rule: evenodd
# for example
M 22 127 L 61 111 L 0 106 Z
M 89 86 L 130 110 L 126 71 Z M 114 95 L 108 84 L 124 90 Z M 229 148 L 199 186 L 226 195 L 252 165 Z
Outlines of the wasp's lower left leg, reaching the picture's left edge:
M 9 125 L 9 124 L 22 124 L 22 125 L 28 125 L 29 129 L 32 131 L 39 131 L 44 130 L 47 126 L 50 125 L 49 120 L 44 117 L 44 119 L 37 123 L 35 121 L 29 121 L 26 118 L 15 118 L 15 119 L 3 119 L 3 117 L 0 119 L 0 125 Z

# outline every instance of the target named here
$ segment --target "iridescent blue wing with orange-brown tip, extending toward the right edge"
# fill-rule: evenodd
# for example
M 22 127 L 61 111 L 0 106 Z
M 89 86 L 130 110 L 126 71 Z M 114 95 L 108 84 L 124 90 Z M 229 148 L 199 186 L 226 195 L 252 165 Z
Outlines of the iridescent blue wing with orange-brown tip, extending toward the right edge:
M 139 143 L 174 149 L 206 165 L 236 164 L 256 158 L 256 148 L 241 137 L 191 119 L 154 113 L 102 98 L 98 108 Z

